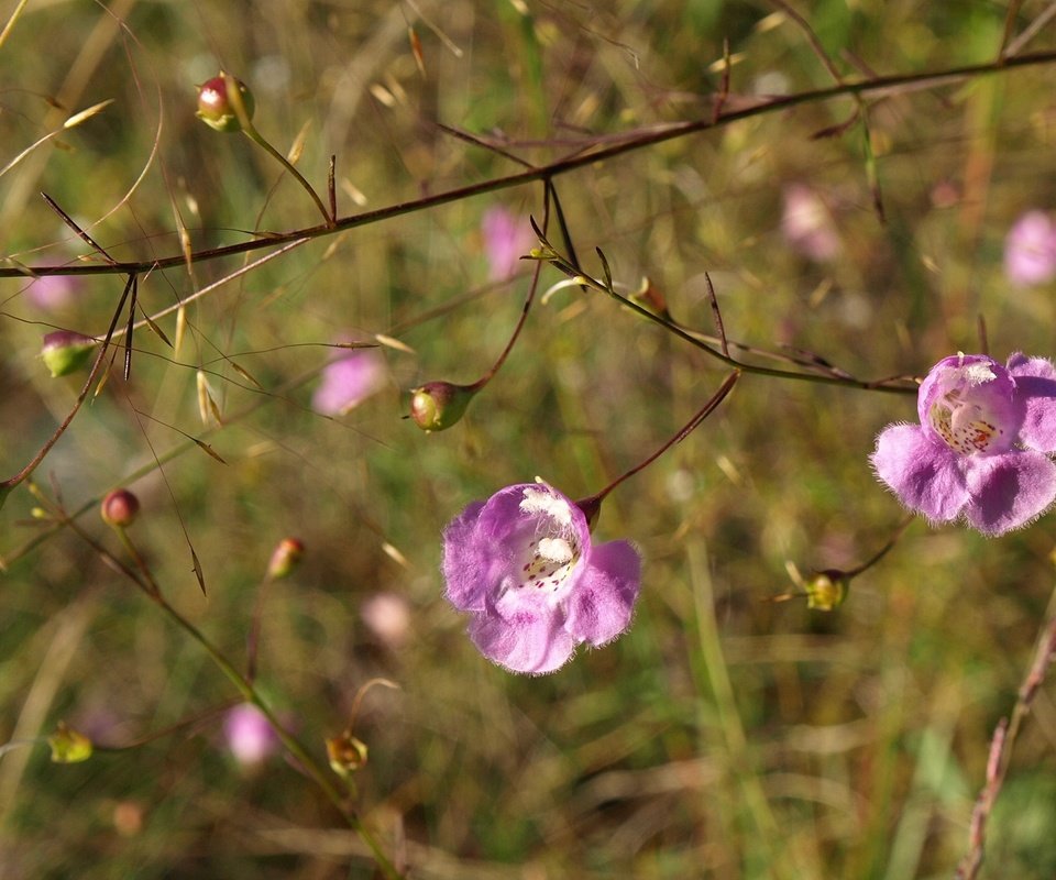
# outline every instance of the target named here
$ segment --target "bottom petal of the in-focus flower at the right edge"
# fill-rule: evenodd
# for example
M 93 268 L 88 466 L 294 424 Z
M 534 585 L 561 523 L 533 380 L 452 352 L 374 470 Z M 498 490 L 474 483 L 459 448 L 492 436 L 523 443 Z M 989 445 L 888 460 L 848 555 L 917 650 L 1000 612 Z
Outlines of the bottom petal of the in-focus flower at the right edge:
M 1003 535 L 1037 519 L 1056 499 L 1056 464 L 1041 452 L 979 455 L 967 474 L 968 521 L 983 535 Z

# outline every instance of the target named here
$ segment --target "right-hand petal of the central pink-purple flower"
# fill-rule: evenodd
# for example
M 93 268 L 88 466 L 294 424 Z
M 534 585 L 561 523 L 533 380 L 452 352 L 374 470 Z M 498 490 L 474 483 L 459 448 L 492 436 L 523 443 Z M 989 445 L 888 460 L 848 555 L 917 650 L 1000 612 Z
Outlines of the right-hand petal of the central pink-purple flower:
M 569 631 L 600 647 L 626 630 L 638 598 L 640 569 L 641 560 L 627 541 L 595 547 L 569 600 Z

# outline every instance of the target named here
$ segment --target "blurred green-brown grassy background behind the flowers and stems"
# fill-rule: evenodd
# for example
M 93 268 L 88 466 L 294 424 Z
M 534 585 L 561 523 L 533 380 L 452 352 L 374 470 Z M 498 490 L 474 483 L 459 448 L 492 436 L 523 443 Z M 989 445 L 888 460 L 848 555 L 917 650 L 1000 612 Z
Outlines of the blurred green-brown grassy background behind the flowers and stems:
M 1004 34 L 1018 52 L 1053 48 L 1050 26 L 1032 35 L 1050 4 L 1013 7 L 795 3 L 847 79 L 992 62 Z M 320 190 L 336 154 L 348 215 L 520 169 L 437 123 L 543 164 L 710 118 L 724 40 L 727 109 L 834 82 L 793 16 L 766 2 L 31 0 L 0 47 L 3 163 L 112 103 L 0 176 L 0 246 L 7 265 L 90 256 L 40 191 L 122 260 L 178 255 L 182 227 L 200 250 L 317 224 L 276 163 L 195 119 L 196 85 L 220 68 L 251 86 L 280 152 L 304 132 L 298 168 Z M 980 315 L 999 360 L 1050 356 L 1054 286 L 1013 286 L 1002 253 L 1018 217 L 1056 207 L 1054 79 L 1046 64 L 869 96 L 868 132 L 854 99 L 811 102 L 583 167 L 557 189 L 588 271 L 602 248 L 618 283 L 648 278 L 704 332 L 707 272 L 730 339 L 864 378 L 978 350 Z M 824 253 L 782 223 L 795 191 L 820 206 Z M 402 418 L 407 389 L 477 378 L 520 312 L 530 266 L 488 275 L 481 222 L 497 206 L 526 224 L 542 188 L 312 241 L 195 300 L 178 351 L 139 330 L 130 381 L 119 356 L 37 472 L 42 490 L 87 507 L 82 528 L 117 554 L 94 506 L 132 488 L 132 532 L 166 595 L 237 664 L 273 547 L 304 541 L 301 566 L 263 598 L 261 685 L 320 756 L 362 685 L 399 685 L 370 691 L 358 714 L 370 748 L 358 809 L 414 877 L 949 877 L 1049 610 L 1052 517 L 1000 540 L 915 521 L 835 612 L 770 602 L 794 590 L 789 563 L 850 569 L 891 536 L 902 514 L 867 455 L 915 406 L 746 376 L 606 503 L 597 539 L 629 538 L 645 560 L 631 630 L 554 675 L 492 667 L 442 597 L 446 522 L 536 475 L 572 497 L 596 492 L 724 375 L 565 288 L 537 302 L 462 424 L 420 432 Z M 156 315 L 244 262 L 152 273 L 141 308 Z M 544 268 L 541 288 L 560 277 Z M 42 334 L 102 333 L 121 285 L 74 278 L 45 305 L 29 279 L 0 280 L 6 475 L 84 380 L 47 377 Z M 172 340 L 173 315 L 158 323 Z M 328 346 L 378 333 L 406 346 L 383 349 L 384 389 L 344 416 L 314 411 Z M 199 369 L 221 427 L 202 424 Z M 70 529 L 34 520 L 36 504 L 23 486 L 0 512 L 0 740 L 65 719 L 114 749 L 66 767 L 43 745 L 3 755 L 0 876 L 371 877 L 295 767 L 232 758 L 222 715 L 237 694 L 199 647 Z M 395 630 L 361 614 L 377 594 L 409 613 Z M 1045 686 L 983 877 L 1056 871 L 1054 732 Z

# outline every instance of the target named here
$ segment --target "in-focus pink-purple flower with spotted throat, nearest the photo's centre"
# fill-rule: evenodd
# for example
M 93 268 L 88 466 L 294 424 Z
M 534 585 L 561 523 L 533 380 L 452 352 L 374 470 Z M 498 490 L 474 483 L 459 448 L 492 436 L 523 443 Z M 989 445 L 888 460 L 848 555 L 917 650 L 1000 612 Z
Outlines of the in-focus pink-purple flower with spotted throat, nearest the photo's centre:
M 593 546 L 583 512 L 544 483 L 474 502 L 443 534 L 448 600 L 473 615 L 470 638 L 513 672 L 562 667 L 581 642 L 628 626 L 641 561 L 627 541 Z

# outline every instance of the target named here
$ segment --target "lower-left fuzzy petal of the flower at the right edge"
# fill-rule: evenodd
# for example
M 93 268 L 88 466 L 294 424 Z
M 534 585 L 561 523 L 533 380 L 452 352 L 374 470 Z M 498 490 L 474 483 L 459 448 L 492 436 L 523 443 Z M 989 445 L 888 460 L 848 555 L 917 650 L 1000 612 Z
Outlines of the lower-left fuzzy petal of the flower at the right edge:
M 935 522 L 956 519 L 968 503 L 957 455 L 930 440 L 919 425 L 890 425 L 872 453 L 877 476 L 906 507 Z

